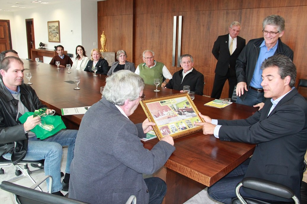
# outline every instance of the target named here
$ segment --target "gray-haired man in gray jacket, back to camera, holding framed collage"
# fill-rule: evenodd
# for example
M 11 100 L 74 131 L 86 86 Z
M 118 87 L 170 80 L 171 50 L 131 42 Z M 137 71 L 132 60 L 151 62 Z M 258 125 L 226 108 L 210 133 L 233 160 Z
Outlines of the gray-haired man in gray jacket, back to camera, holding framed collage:
M 134 124 L 128 118 L 145 98 L 144 86 L 144 80 L 129 70 L 107 77 L 103 98 L 87 110 L 80 124 L 69 198 L 125 203 L 135 195 L 138 203 L 163 201 L 165 182 L 157 177 L 143 179 L 142 174 L 153 174 L 165 164 L 175 150 L 173 138 L 165 135 L 151 150 L 145 149 L 140 138 L 155 123 L 146 119 Z

